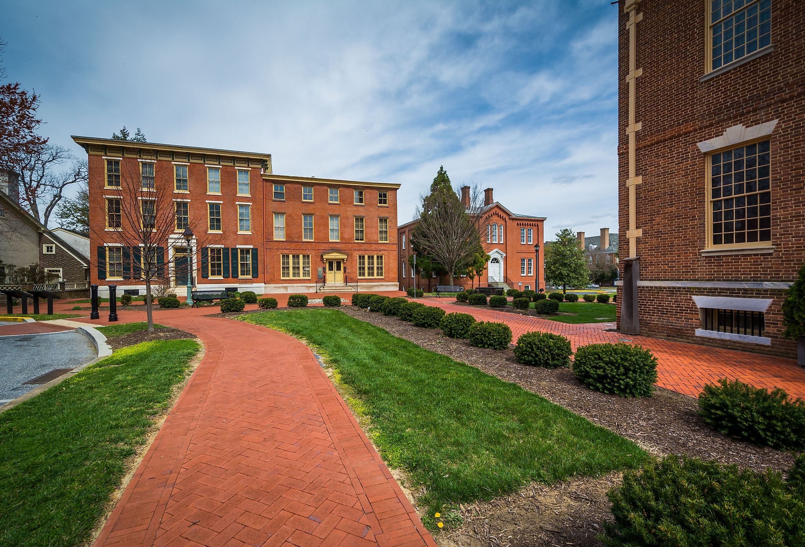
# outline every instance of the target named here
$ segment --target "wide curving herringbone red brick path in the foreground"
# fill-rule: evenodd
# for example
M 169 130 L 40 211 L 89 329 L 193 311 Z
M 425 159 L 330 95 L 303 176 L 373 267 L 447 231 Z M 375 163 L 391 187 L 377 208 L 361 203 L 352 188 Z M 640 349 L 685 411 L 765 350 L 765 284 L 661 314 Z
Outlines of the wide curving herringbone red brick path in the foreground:
M 206 355 L 95 545 L 435 547 L 307 347 L 198 311 L 159 323 Z

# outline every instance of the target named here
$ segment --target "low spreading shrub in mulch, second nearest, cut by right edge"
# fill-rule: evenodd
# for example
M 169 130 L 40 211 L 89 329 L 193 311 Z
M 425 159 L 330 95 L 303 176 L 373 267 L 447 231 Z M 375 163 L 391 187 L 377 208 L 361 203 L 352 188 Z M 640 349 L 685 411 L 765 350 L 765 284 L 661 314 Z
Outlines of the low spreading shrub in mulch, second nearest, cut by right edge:
M 700 415 L 716 431 L 778 450 L 805 448 L 805 401 L 783 389 L 718 380 L 699 394 Z

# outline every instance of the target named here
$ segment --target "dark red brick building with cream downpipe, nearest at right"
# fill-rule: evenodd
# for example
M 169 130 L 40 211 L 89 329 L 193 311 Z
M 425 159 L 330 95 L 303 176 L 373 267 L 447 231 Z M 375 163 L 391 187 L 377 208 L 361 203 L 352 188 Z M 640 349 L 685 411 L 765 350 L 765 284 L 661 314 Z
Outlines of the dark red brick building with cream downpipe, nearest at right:
M 805 9 L 621 0 L 621 331 L 795 355 Z

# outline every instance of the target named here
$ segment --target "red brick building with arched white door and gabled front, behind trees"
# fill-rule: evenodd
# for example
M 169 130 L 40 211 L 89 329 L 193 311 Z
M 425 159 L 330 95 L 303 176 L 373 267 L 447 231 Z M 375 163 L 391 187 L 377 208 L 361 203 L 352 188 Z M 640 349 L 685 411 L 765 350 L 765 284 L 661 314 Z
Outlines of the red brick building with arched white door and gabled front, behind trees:
M 461 199 L 469 207 L 469 186 L 461 188 Z M 518 215 L 503 207 L 493 199 L 493 189 L 484 191 L 484 216 L 481 226 L 485 228 L 486 240 L 482 246 L 489 254 L 489 262 L 481 278 L 460 276 L 454 278 L 456 285 L 469 288 L 471 286 L 502 286 L 518 290 L 539 290 L 545 288 L 545 245 L 543 224 L 545 217 Z M 416 227 L 416 220 L 402 224 L 398 228 L 398 282 L 401 290 L 414 286 L 413 255 L 411 234 Z M 416 275 L 417 288 L 434 290 L 437 285 L 448 284 L 446 273 L 433 273 L 423 278 Z

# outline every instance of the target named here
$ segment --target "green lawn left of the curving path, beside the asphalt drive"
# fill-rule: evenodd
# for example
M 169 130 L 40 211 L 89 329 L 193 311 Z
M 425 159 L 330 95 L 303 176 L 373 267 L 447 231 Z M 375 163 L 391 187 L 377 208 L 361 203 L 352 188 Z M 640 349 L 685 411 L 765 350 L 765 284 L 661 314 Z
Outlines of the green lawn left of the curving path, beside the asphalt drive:
M 199 346 L 139 343 L 0 413 L 0 545 L 87 541 Z

